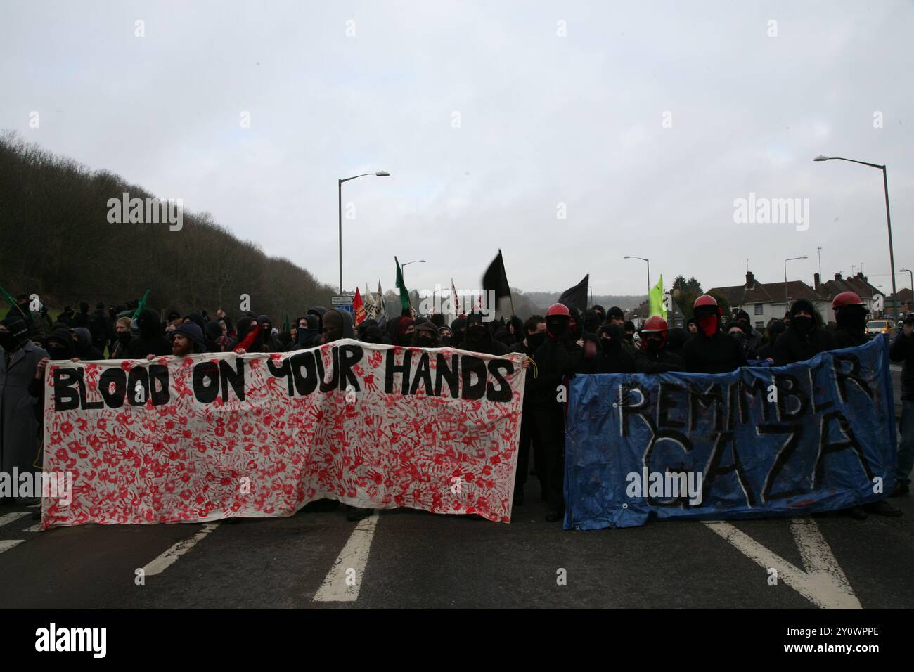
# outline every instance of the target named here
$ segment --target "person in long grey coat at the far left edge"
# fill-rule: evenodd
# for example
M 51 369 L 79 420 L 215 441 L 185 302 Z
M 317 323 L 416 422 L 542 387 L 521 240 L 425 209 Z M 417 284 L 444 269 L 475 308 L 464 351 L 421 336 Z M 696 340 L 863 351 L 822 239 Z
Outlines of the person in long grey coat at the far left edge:
M 0 472 L 27 474 L 35 471 L 48 353 L 28 338 L 26 321 L 16 315 L 0 322 L 0 348 Z

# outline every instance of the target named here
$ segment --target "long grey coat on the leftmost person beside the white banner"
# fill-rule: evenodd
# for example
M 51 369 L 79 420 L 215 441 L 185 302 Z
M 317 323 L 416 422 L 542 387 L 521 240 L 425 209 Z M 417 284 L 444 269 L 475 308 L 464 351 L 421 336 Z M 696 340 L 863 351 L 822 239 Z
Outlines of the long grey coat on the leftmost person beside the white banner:
M 38 452 L 38 400 L 29 392 L 38 361 L 48 353 L 31 341 L 20 347 L 6 366 L 6 353 L 0 348 L 0 471 L 35 471 L 32 464 Z M 44 385 L 40 386 L 43 390 Z

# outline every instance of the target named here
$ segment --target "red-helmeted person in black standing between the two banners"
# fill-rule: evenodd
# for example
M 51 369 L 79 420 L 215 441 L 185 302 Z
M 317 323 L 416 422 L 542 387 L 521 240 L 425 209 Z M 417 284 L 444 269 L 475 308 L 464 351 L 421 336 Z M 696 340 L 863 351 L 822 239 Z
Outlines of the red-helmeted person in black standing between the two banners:
M 537 473 L 545 472 L 548 522 L 561 520 L 565 513 L 563 484 L 565 475 L 565 403 L 568 400 L 566 380 L 575 374 L 580 347 L 577 345 L 572 313 L 568 306 L 552 304 L 546 313 L 546 341 L 534 355 L 538 376 L 531 397 L 532 417 L 536 424 L 547 464 L 537 464 Z M 561 388 L 561 390 L 559 390 Z

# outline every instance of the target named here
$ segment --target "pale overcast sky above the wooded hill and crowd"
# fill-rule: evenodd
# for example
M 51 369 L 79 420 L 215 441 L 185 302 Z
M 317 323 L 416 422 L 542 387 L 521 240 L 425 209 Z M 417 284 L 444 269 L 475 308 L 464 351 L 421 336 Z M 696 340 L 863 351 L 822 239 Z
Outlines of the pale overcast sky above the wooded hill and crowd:
M 475 288 L 499 247 L 527 291 L 590 272 L 594 293 L 644 293 L 626 254 L 706 289 L 744 282 L 747 258 L 778 282 L 808 255 L 789 272 L 812 283 L 818 247 L 825 275 L 862 262 L 890 288 L 880 171 L 819 154 L 888 166 L 896 268 L 914 265 L 909 0 L 0 0 L 0 14 L 0 128 L 181 197 L 323 282 L 338 278 L 337 178 L 387 170 L 343 187 L 348 290 L 392 288 L 395 254 L 427 260 L 410 288 Z M 808 198 L 808 229 L 736 223 L 750 192 Z

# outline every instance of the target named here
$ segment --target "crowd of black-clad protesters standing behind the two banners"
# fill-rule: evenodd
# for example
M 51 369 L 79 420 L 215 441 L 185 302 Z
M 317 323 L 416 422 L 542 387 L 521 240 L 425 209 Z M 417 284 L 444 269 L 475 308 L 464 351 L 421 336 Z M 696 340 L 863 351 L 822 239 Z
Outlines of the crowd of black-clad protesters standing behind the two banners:
M 866 306 L 856 293 L 834 299 L 835 324 L 824 325 L 813 304 L 793 302 L 782 320 L 771 320 L 764 333 L 755 329 L 745 311 L 728 323 L 714 297 L 696 299 L 684 328 L 669 327 L 664 318 L 648 318 L 640 329 L 626 321 L 622 309 L 608 311 L 594 305 L 580 312 L 566 304 L 551 305 L 546 315 L 517 316 L 488 322 L 484 315 L 461 315 L 446 323 L 443 315 L 413 316 L 407 311 L 392 319 L 366 319 L 354 324 L 345 310 L 314 306 L 292 324 L 274 325 L 270 316 L 246 313 L 235 319 L 219 308 L 213 317 L 204 310 L 181 315 L 169 311 L 165 319 L 137 302 L 105 309 L 97 303 L 80 304 L 77 313 L 65 306 L 56 321 L 42 308 L 29 311 L 27 295 L 0 322 L 0 468 L 27 471 L 39 466 L 40 404 L 44 368 L 48 359 L 84 361 L 186 357 L 200 353 L 289 352 L 358 338 L 366 343 L 412 347 L 458 347 L 501 356 L 520 352 L 533 361 L 526 367 L 520 450 L 515 476 L 515 505 L 524 502 L 528 474 L 536 474 L 541 497 L 547 502 L 547 520 L 564 515 L 563 474 L 565 445 L 564 400 L 557 389 L 569 376 L 591 373 L 646 373 L 671 371 L 726 373 L 766 360 L 781 366 L 804 361 L 820 352 L 866 343 Z M 135 316 L 134 316 L 135 315 Z M 904 363 L 902 372 L 902 443 L 898 454 L 897 485 L 893 495 L 909 492 L 914 464 L 914 316 L 899 330 L 890 357 Z M 526 362 L 525 362 L 526 366 Z M 532 460 L 531 460 L 532 458 Z M 533 471 L 531 472 L 531 462 Z M 899 516 L 885 500 L 848 513 Z M 370 513 L 350 507 L 356 520 Z

